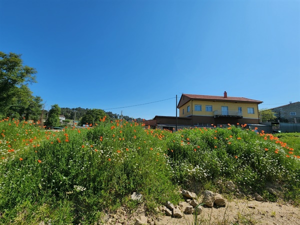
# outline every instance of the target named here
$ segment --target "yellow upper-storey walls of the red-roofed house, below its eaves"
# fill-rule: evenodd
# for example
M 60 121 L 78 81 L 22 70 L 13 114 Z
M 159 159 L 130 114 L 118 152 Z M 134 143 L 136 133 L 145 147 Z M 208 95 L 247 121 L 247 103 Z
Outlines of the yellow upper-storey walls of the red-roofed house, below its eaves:
M 200 106 L 199 106 L 200 105 Z M 211 111 L 206 111 L 206 105 Z M 222 108 L 222 106 L 224 106 Z M 215 100 L 190 100 L 179 107 L 179 116 L 187 117 L 191 115 L 213 116 L 217 113 L 215 110 L 221 111 L 227 108 L 229 112 L 240 113 L 243 118 L 258 119 L 257 103 L 251 102 L 229 102 L 229 101 L 215 101 Z M 201 109 L 201 110 L 199 110 Z M 214 112 L 215 111 L 215 112 Z M 248 113 L 250 112 L 250 113 Z

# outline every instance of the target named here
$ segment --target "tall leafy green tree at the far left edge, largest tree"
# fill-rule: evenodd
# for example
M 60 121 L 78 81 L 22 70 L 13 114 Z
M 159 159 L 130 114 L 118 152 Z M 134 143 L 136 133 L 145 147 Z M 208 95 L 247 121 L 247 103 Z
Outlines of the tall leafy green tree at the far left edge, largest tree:
M 27 85 L 36 82 L 35 73 L 34 68 L 23 65 L 20 54 L 11 52 L 6 54 L 0 51 L 0 114 L 2 116 L 8 113 L 20 116 L 19 113 L 26 106 L 21 105 L 20 102 L 31 96 Z M 26 93 L 22 96 L 23 99 L 20 99 L 21 93 Z M 15 113 L 13 108 L 18 108 Z

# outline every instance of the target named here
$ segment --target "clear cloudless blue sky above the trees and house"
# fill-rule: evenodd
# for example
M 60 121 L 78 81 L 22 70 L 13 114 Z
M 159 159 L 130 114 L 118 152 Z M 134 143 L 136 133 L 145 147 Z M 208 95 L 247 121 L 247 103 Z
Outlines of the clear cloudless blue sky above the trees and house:
M 300 101 L 299 21 L 298 0 L 0 0 L 0 51 L 46 109 L 151 119 L 225 90 L 271 108 Z

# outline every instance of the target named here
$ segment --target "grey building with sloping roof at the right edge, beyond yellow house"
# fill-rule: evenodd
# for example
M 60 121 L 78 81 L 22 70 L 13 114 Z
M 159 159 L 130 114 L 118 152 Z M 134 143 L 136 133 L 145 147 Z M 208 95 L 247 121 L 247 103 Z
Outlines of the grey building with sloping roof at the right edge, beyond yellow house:
M 280 122 L 300 122 L 300 101 L 270 108 Z

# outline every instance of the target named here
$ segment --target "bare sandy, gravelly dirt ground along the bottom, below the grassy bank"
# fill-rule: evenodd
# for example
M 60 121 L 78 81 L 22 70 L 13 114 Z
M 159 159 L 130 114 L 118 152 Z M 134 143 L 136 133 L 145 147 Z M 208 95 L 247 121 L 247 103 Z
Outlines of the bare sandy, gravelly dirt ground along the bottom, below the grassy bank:
M 126 209 L 119 213 L 106 217 L 101 224 L 129 225 L 137 224 L 136 219 L 140 216 L 147 217 L 147 224 L 151 225 L 242 225 L 242 224 L 263 224 L 263 225 L 299 225 L 300 209 L 289 203 L 264 202 L 256 200 L 234 199 L 226 201 L 224 207 L 203 207 L 195 223 L 194 215 L 183 214 L 182 218 L 171 216 L 146 215 L 142 207 L 138 207 L 133 213 Z

